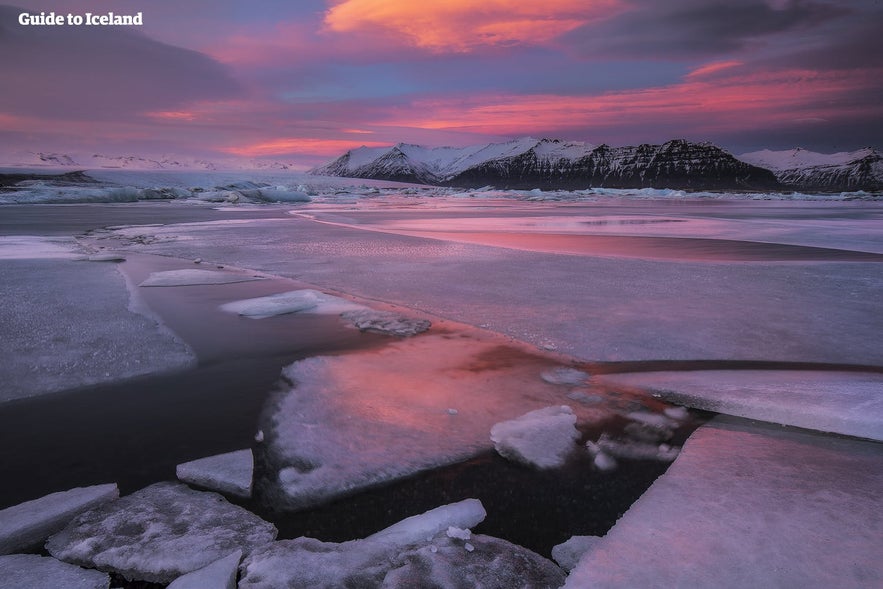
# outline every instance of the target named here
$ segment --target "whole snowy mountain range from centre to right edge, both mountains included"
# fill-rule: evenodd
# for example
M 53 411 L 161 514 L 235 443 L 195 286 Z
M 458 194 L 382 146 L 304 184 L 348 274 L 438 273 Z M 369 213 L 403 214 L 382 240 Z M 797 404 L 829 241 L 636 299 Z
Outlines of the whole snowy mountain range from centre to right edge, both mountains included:
M 594 146 L 525 137 L 469 147 L 359 147 L 310 171 L 503 189 L 682 188 L 692 190 L 881 190 L 883 165 L 873 149 L 833 155 L 759 151 L 738 158 L 711 143 Z

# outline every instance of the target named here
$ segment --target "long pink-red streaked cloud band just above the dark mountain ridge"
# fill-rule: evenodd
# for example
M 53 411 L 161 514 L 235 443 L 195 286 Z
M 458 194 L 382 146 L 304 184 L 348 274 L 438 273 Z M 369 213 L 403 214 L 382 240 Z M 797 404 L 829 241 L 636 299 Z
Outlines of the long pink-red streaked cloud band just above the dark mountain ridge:
M 880 75 L 879 71 L 793 70 L 713 82 L 688 76 L 684 82 L 671 86 L 594 96 L 534 94 L 432 99 L 412 103 L 407 114 L 396 113 L 372 124 L 510 136 L 566 133 L 592 127 L 652 128 L 658 127 L 660 121 L 683 122 L 703 132 L 737 130 L 746 125 L 793 121 L 798 116 L 836 118 L 844 113 L 841 105 L 845 98 Z

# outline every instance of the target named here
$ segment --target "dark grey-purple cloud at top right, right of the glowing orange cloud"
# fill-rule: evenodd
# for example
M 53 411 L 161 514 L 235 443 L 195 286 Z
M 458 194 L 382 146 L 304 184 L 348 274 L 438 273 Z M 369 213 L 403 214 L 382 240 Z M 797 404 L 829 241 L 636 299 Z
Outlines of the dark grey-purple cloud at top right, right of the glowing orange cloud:
M 808 28 L 848 13 L 833 4 L 790 0 L 638 0 L 634 8 L 563 37 L 572 49 L 599 59 L 705 58 L 737 51 L 752 40 Z

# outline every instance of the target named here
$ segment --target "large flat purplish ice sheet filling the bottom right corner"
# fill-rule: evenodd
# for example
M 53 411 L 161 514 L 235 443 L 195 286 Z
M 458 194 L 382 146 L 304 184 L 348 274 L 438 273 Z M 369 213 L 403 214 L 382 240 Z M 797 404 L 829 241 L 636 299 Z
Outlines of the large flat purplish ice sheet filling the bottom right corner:
M 565 587 L 878 587 L 881 488 L 879 443 L 716 418 Z

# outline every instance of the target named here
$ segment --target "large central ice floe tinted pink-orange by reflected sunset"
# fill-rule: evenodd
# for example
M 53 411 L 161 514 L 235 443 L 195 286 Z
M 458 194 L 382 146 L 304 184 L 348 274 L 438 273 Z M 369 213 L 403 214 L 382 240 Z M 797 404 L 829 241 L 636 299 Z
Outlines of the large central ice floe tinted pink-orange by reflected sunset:
M 295 362 L 262 425 L 278 472 L 264 484 L 301 508 L 491 450 L 495 423 L 561 403 L 540 378 L 554 366 L 495 337 L 431 333 Z

